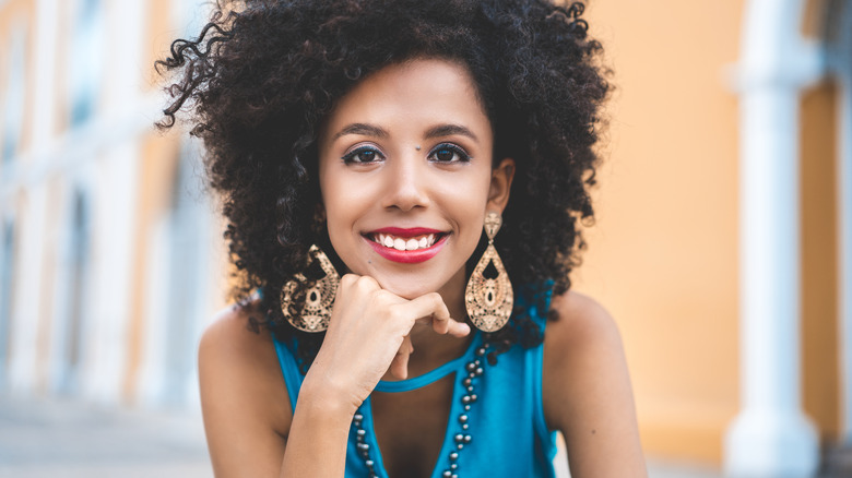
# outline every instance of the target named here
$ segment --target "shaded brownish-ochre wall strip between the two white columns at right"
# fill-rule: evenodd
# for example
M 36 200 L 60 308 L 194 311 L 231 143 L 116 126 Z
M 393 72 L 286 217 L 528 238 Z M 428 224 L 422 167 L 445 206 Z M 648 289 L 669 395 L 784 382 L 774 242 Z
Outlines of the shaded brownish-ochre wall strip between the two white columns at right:
M 837 89 L 825 82 L 802 98 L 803 405 L 824 442 L 840 433 L 838 366 Z

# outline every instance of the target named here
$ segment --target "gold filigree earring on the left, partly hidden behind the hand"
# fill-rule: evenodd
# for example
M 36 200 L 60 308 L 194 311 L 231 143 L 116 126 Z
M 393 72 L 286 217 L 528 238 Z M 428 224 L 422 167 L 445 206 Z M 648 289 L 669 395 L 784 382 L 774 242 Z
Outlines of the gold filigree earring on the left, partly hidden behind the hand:
M 307 271 L 315 270 L 317 265 L 322 270 L 324 276 L 317 279 L 313 286 L 305 292 L 305 304 L 298 315 L 291 312 L 289 303 L 293 301 L 293 295 L 298 286 L 306 284 L 308 278 L 304 274 L 296 274 L 295 280 L 288 280 L 281 289 L 281 312 L 284 313 L 287 322 L 304 332 L 322 332 L 329 327 L 331 307 L 334 304 L 334 297 L 340 284 L 340 275 L 331 265 L 328 255 L 317 244 L 313 244 L 308 250 Z

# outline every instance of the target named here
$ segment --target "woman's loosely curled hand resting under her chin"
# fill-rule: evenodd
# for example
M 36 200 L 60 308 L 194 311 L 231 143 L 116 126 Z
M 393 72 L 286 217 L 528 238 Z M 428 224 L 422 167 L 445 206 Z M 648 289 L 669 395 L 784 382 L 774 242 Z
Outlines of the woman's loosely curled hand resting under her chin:
M 327 399 L 333 395 L 347 401 L 354 411 L 388 370 L 395 378 L 407 377 L 414 350 L 409 333 L 415 323 L 428 323 L 436 333 L 455 337 L 471 332 L 468 324 L 450 318 L 437 292 L 407 300 L 382 289 L 372 277 L 346 274 L 305 381 Z

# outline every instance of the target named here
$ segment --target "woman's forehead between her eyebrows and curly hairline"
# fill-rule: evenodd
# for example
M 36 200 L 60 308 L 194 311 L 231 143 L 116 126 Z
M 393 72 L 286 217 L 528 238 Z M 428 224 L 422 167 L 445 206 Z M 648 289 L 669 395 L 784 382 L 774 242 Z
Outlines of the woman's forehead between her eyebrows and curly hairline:
M 341 98 L 324 133 L 333 135 L 353 122 L 390 130 L 463 123 L 488 138 L 492 127 L 468 69 L 440 59 L 395 63 L 370 74 Z

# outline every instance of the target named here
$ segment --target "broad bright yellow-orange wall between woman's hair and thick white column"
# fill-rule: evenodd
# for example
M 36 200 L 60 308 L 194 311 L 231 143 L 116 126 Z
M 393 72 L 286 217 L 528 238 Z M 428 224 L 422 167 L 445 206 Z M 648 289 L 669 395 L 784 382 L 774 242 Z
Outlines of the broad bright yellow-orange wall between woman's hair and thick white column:
M 575 273 L 625 338 L 649 454 L 719 463 L 738 406 L 742 1 L 595 1 L 616 86 L 596 225 Z

